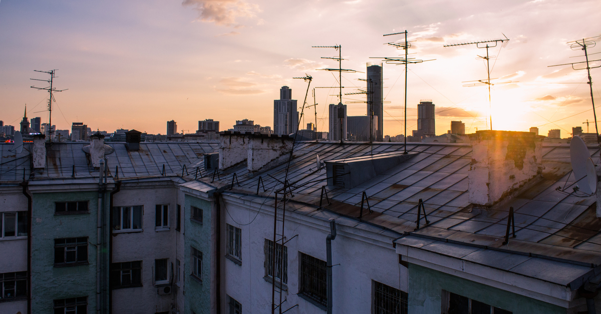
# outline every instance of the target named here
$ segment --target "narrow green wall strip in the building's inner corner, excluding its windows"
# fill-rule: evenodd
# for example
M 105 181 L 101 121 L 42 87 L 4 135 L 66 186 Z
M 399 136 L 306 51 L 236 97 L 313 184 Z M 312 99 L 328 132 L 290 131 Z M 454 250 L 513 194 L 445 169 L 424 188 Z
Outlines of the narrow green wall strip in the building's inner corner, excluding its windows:
M 185 265 L 184 284 L 185 284 L 185 309 L 186 314 L 209 314 L 211 309 L 211 226 L 213 223 L 211 217 L 212 205 L 208 201 L 195 198 L 191 195 L 185 196 L 184 203 L 184 224 L 185 224 Z M 191 206 L 203 210 L 203 223 L 197 223 L 191 220 Z M 191 276 L 192 273 L 192 255 L 191 247 L 203 252 L 203 274 L 202 282 Z

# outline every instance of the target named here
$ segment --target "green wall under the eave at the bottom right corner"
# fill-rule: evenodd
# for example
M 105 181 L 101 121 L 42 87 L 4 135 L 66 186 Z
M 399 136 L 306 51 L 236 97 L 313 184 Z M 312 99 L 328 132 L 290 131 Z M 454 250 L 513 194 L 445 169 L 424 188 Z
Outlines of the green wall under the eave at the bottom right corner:
M 563 307 L 514 294 L 415 264 L 409 265 L 409 313 L 440 314 L 442 290 L 463 295 L 513 314 L 566 313 Z

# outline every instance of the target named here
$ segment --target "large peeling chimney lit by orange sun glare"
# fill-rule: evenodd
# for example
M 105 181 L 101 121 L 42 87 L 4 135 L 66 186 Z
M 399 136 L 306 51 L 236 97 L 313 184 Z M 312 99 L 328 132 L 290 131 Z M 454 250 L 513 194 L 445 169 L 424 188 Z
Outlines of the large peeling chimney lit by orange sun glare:
M 490 207 L 542 174 L 542 139 L 534 133 L 485 130 L 470 139 L 471 204 Z

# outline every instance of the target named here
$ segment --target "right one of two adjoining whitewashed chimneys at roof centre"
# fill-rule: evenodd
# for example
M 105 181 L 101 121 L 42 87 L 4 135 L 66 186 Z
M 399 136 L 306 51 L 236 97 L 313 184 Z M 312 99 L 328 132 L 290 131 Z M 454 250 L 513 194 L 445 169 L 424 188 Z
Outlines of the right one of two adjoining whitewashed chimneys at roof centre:
M 248 171 L 255 172 L 261 168 L 279 165 L 290 157 L 293 137 L 277 134 L 255 133 L 249 137 Z

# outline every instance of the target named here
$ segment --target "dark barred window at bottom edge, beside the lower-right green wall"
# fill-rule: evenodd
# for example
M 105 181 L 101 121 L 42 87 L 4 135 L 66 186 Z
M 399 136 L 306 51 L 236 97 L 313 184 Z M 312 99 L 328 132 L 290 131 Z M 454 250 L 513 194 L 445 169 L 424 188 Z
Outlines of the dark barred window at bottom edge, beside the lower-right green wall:
M 407 314 L 407 292 L 372 281 L 374 314 Z

